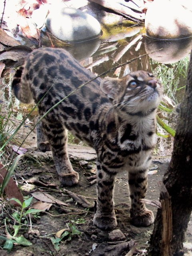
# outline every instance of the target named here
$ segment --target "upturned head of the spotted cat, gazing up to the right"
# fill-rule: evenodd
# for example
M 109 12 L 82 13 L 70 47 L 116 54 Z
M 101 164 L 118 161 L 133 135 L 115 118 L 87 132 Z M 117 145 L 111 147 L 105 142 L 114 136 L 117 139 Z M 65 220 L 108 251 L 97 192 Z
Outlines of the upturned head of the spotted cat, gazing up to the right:
M 153 74 L 142 70 L 122 79 L 105 78 L 100 87 L 117 109 L 132 114 L 157 108 L 163 93 L 160 81 Z

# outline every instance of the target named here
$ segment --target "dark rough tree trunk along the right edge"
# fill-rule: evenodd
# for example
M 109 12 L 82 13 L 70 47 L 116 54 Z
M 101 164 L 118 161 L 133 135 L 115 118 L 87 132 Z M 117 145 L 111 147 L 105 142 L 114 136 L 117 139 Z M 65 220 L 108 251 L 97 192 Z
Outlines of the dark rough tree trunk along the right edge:
M 192 52 L 172 158 L 163 182 L 172 204 L 172 240 L 167 241 L 171 246 L 171 253 L 168 256 L 176 256 L 183 248 L 184 232 L 192 211 Z M 162 210 L 158 209 L 148 256 L 162 256 L 162 250 Z M 182 252 L 180 253 L 182 255 Z

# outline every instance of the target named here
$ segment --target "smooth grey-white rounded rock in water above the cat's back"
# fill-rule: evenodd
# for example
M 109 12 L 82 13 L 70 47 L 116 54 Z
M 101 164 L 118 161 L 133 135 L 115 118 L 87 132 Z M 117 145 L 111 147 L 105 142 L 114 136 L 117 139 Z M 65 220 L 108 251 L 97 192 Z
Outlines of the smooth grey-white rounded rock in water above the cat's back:
M 97 38 L 101 27 L 94 17 L 65 4 L 52 6 L 46 27 L 56 38 L 65 42 L 82 42 Z

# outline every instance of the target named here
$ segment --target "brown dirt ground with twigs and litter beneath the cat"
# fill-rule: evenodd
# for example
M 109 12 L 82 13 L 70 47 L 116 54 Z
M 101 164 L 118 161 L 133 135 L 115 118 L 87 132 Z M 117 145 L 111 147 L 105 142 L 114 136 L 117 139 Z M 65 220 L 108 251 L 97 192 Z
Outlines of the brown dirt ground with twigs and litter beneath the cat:
M 96 184 L 90 185 L 88 177 L 95 173 L 94 151 L 87 147 L 72 146 L 69 148 L 69 154 L 74 169 L 80 174 L 80 181 L 78 185 L 66 188 L 66 191 L 72 191 L 77 195 L 84 196 L 84 198 L 90 202 L 90 205 L 93 206 L 96 198 Z M 92 224 L 94 216 L 93 208 L 90 210 L 86 209 L 86 206 L 83 207 L 80 205 L 81 202 L 79 200 L 76 202 L 75 199 L 68 196 L 68 193 L 66 193 L 63 188 L 59 187 L 50 152 L 33 152 L 32 155 L 34 157 L 39 156 L 38 161 L 41 163 L 41 166 L 31 160 L 32 158 L 28 157 L 28 161 L 22 164 L 26 166 L 26 168 L 20 168 L 15 174 L 21 189 L 24 189 L 27 184 L 33 184 L 34 186 L 32 191 L 25 191 L 23 194 L 30 195 L 35 191 L 50 193 L 55 198 L 69 204 L 69 206 L 65 207 L 60 204 L 52 204 L 48 213 L 40 213 L 40 218 L 38 219 L 32 218 L 32 229 L 38 231 L 28 234 L 28 230 L 26 230 L 26 232 L 22 233 L 25 238 L 32 242 L 32 246 L 14 246 L 14 249 L 10 253 L 7 253 L 5 250 L 0 250 L 1 256 L 124 256 L 133 245 L 136 245 L 134 255 L 145 255 L 153 226 L 137 228 L 130 224 L 130 199 L 126 172 L 117 175 L 114 192 L 115 211 L 118 222 L 116 229 L 119 229 L 124 236 L 120 233 L 123 236 L 121 238 L 118 233 L 120 231 L 116 231 L 116 236 L 113 238 L 110 232 L 102 231 Z M 148 176 L 147 199 L 158 200 L 159 190 L 157 182 L 162 180 L 169 159 L 170 158 L 166 157 L 163 159 L 158 157 L 154 158 L 152 162 L 154 174 Z M 45 186 L 43 186 L 43 184 L 45 184 Z M 33 202 L 36 201 L 36 199 L 33 199 Z M 151 206 L 148 206 L 148 208 L 153 210 L 154 214 L 156 214 L 155 208 Z M 68 214 L 65 215 L 66 213 Z M 62 240 L 56 250 L 51 238 L 53 238 L 54 234 L 59 230 L 68 228 L 68 225 L 70 225 L 68 223 L 73 223 L 81 232 L 81 235 L 73 236 L 70 241 Z M 189 223 L 189 228 L 186 232 L 186 241 L 188 244 L 192 242 L 191 223 Z

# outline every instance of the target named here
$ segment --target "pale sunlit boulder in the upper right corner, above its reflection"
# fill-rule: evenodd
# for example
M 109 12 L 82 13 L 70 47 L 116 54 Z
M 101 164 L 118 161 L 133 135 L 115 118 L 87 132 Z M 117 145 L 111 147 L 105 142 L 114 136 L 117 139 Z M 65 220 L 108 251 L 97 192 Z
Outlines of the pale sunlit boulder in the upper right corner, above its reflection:
M 192 12 L 188 8 L 180 0 L 154 0 L 145 16 L 146 35 L 158 39 L 191 36 Z

